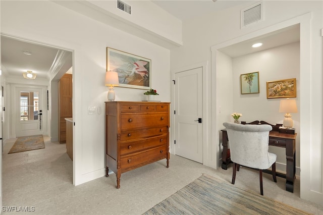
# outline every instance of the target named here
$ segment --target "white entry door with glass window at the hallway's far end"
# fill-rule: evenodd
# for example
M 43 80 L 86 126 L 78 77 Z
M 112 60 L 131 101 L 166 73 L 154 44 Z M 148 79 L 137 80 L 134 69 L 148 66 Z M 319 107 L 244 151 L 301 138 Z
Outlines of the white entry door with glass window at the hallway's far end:
M 41 92 L 41 89 L 18 90 L 17 137 L 42 134 Z

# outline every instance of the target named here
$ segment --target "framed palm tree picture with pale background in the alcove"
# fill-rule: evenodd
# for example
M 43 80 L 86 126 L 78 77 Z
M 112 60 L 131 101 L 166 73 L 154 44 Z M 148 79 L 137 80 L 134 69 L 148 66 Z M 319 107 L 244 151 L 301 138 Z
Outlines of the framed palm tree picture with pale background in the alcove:
M 259 72 L 240 75 L 241 94 L 259 93 Z

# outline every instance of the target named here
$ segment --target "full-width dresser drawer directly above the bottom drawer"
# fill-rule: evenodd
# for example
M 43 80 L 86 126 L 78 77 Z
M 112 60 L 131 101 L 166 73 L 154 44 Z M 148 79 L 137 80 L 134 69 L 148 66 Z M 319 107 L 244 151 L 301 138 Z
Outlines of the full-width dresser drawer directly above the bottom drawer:
M 142 151 L 157 146 L 167 145 L 167 143 L 167 135 L 149 137 L 132 142 L 122 142 L 120 143 L 120 154 L 122 156 L 124 154 L 129 154 L 140 150 Z

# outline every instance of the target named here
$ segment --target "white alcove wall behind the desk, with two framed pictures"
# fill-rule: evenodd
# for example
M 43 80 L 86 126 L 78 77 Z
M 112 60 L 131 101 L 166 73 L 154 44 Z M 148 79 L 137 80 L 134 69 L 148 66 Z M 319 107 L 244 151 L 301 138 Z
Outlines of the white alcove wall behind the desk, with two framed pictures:
M 266 82 L 296 78 L 296 103 L 299 109 L 299 42 L 259 51 L 233 59 L 233 112 L 242 113 L 240 121 L 263 120 L 271 124 L 283 124 L 284 113 L 279 113 L 282 98 L 266 97 Z M 259 72 L 259 93 L 241 94 L 240 75 Z M 233 118 L 232 118 L 233 119 Z M 232 119 L 230 119 L 232 121 Z M 296 174 L 300 167 L 300 112 L 292 114 L 296 138 Z M 277 154 L 277 171 L 286 173 L 286 151 L 284 148 L 270 146 Z

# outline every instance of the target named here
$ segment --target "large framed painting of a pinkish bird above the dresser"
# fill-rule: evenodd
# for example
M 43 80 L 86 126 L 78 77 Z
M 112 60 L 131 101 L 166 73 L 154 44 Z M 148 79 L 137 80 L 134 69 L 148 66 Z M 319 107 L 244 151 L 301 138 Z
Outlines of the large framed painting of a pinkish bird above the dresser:
M 119 86 L 151 88 L 151 60 L 106 47 L 106 71 L 118 73 Z

